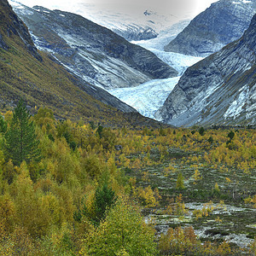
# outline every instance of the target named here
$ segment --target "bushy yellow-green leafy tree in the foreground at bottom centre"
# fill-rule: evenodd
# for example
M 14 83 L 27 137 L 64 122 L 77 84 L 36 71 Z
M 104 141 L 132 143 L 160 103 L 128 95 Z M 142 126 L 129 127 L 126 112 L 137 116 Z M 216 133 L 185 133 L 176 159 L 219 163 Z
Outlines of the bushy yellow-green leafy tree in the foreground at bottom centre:
M 145 224 L 136 207 L 119 200 L 105 221 L 90 230 L 84 252 L 108 256 L 157 255 L 154 229 Z

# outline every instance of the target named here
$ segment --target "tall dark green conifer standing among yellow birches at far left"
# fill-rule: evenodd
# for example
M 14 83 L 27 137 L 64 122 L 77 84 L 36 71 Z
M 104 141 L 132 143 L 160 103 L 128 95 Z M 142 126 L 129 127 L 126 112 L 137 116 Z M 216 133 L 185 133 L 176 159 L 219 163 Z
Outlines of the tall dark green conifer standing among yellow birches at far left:
M 30 117 L 23 100 L 20 100 L 5 134 L 4 147 L 7 159 L 13 160 L 16 166 L 20 166 L 23 160 L 27 163 L 31 160 L 40 160 L 39 142 Z

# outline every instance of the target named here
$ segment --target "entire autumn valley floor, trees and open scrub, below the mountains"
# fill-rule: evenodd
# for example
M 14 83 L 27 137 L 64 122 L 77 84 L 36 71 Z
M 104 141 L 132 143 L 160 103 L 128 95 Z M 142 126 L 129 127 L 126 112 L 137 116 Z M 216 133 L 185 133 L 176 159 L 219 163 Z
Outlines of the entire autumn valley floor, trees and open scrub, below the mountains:
M 0 118 L 0 254 L 254 255 L 256 132 L 201 131 L 109 128 L 49 108 L 30 116 L 19 103 Z M 235 223 L 221 214 L 230 206 L 247 213 Z M 155 230 L 153 215 L 169 229 Z M 197 236 L 206 223 L 221 238 Z

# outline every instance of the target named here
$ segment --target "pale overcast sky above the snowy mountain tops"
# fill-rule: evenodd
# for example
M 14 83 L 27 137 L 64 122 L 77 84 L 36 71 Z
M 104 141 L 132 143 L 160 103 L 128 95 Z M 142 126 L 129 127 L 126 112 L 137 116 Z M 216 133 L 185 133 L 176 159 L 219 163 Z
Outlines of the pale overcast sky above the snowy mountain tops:
M 152 9 L 162 14 L 182 14 L 191 12 L 198 15 L 207 9 L 211 3 L 218 0 L 17 0 L 27 6 L 41 5 L 48 9 L 70 10 L 76 3 L 92 3 L 98 9 L 123 9 L 132 13 L 137 9 Z

